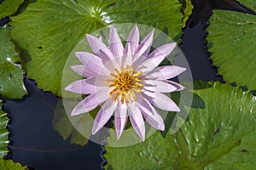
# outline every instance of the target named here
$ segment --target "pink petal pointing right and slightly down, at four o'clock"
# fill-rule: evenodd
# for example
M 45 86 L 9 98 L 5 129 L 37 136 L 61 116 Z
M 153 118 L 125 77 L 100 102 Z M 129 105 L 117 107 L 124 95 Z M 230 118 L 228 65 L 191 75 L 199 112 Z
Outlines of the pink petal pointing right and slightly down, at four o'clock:
M 177 107 L 176 103 L 172 101 L 169 97 L 167 97 L 165 94 L 161 94 L 158 92 L 150 93 L 150 92 L 143 92 L 143 96 L 148 99 L 148 101 L 160 108 L 161 110 L 165 111 L 180 111 L 180 109 Z

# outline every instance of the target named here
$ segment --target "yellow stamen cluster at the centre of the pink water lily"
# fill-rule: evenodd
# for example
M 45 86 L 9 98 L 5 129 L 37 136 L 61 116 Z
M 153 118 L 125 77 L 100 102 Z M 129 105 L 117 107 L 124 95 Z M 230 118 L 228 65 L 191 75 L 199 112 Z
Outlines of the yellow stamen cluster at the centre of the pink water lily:
M 136 100 L 136 95 L 134 92 L 137 92 L 138 94 L 141 93 L 141 88 L 144 88 L 142 82 L 142 78 L 140 77 L 142 75 L 142 72 L 134 72 L 134 69 L 129 65 L 126 65 L 126 68 L 123 68 L 120 66 L 120 69 L 114 69 L 116 74 L 110 73 L 110 77 L 113 77 L 113 79 L 108 80 L 107 82 L 110 82 L 110 85 L 108 85 L 109 88 L 113 88 L 113 90 L 109 93 L 109 96 L 113 98 L 113 100 L 116 102 L 116 100 L 121 97 L 121 102 L 124 104 L 130 103 L 131 99 Z

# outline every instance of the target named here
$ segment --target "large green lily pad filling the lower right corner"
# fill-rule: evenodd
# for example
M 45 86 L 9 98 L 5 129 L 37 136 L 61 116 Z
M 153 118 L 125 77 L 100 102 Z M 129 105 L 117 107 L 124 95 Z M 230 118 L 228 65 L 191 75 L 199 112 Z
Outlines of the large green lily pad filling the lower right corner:
M 241 88 L 220 82 L 195 82 L 193 92 L 198 95 L 195 103 L 203 100 L 204 107 L 191 107 L 189 120 L 175 135 L 168 133 L 163 138 L 157 132 L 144 143 L 123 148 L 106 147 L 107 169 L 255 167 L 255 97 Z

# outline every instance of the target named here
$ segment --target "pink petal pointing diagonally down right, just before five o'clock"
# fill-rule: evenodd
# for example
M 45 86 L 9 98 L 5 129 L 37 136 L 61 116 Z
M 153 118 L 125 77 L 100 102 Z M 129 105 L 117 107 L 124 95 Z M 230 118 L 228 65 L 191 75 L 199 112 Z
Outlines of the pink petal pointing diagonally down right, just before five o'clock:
M 139 97 L 139 95 L 137 95 L 137 97 Z M 159 115 L 157 111 L 155 111 L 154 107 L 148 102 L 147 99 L 142 99 L 142 103 L 139 104 L 139 108 L 142 111 L 146 121 L 152 127 L 161 131 L 165 130 L 165 123 L 162 117 Z

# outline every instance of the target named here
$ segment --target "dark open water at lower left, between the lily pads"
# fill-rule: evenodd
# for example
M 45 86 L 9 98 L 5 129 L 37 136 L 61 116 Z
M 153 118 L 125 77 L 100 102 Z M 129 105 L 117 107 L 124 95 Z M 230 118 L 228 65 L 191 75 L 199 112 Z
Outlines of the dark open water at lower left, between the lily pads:
M 4 103 L 11 120 L 9 158 L 37 170 L 102 169 L 102 146 L 64 141 L 52 126 L 58 98 L 42 92 L 31 80 L 25 83 L 29 92 L 25 99 Z

